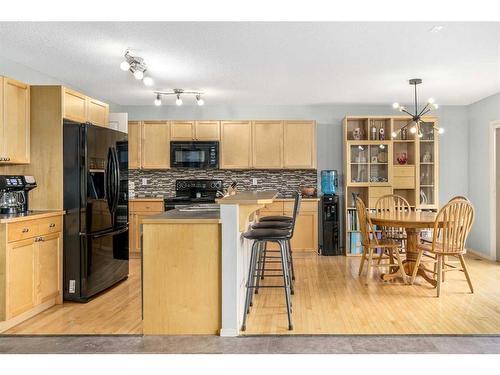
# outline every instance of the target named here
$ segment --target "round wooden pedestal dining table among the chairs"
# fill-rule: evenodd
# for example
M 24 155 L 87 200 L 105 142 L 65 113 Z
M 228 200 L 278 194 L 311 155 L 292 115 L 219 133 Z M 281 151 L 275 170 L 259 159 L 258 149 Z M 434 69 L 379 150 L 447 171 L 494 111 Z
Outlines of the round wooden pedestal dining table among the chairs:
M 436 212 L 409 211 L 409 212 L 376 212 L 370 214 L 372 224 L 381 227 L 404 228 L 406 232 L 406 260 L 403 262 L 404 272 L 407 276 L 413 273 L 418 251 L 417 246 L 420 241 L 420 232 L 424 229 L 434 228 Z M 442 226 L 440 222 L 439 227 Z M 425 270 L 424 264 L 419 265 L 417 276 L 421 276 L 432 286 L 436 286 L 434 277 L 430 277 Z M 383 280 L 392 280 L 401 277 L 399 267 L 396 271 L 382 275 Z

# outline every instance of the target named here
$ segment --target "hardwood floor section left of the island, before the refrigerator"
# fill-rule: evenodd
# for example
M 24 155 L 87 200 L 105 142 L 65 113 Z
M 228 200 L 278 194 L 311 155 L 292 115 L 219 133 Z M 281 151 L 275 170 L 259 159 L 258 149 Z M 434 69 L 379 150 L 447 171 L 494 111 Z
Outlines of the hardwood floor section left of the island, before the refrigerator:
M 64 302 L 4 334 L 142 334 L 141 262 L 130 259 L 129 277 L 88 303 Z

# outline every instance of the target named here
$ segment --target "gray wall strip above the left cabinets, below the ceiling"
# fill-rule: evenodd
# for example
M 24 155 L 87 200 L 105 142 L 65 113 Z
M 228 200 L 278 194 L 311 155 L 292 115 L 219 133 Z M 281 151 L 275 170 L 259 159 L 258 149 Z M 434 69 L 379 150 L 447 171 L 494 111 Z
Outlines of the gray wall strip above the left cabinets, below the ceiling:
M 13 78 L 15 80 L 25 82 L 30 85 L 63 85 L 73 90 L 79 91 L 83 94 L 95 97 L 103 102 L 109 103 L 110 112 L 121 112 L 121 107 L 115 103 L 99 97 L 96 93 L 85 92 L 84 90 L 68 85 L 61 80 L 51 77 L 47 74 L 41 73 L 37 70 L 31 69 L 25 65 L 19 64 L 15 61 L 0 56 L 0 75 Z

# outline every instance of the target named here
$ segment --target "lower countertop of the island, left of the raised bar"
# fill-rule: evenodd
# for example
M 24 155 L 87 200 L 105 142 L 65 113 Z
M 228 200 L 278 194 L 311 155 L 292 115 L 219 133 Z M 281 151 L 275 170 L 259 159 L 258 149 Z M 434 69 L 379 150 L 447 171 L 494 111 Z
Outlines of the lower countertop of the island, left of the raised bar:
M 189 207 L 194 207 L 191 205 Z M 176 208 L 162 212 L 158 215 L 146 216 L 142 219 L 142 224 L 207 224 L 220 223 L 220 210 L 189 210 L 186 208 Z

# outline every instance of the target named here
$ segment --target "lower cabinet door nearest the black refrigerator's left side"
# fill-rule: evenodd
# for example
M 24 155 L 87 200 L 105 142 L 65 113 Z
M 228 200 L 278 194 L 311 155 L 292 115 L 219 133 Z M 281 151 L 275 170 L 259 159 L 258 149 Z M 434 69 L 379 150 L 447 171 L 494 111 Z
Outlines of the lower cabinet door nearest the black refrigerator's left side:
M 53 233 L 37 241 L 36 260 L 36 303 L 55 298 L 61 291 L 61 235 Z

